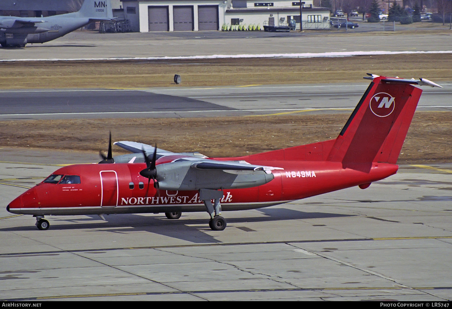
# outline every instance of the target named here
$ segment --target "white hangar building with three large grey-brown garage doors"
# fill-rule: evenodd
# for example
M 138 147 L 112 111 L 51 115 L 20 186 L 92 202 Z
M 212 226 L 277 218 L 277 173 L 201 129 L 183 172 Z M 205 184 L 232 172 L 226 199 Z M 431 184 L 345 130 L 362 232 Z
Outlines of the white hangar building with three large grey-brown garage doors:
M 134 31 L 221 30 L 222 25 L 287 25 L 297 21 L 300 2 L 288 0 L 122 0 L 125 18 Z M 330 10 L 303 1 L 303 28 L 330 28 Z

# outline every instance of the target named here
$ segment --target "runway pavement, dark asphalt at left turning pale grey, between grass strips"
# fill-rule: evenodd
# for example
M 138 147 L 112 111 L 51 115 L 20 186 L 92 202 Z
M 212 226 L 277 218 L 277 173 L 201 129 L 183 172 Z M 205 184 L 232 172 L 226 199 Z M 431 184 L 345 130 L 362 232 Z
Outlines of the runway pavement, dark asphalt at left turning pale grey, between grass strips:
M 452 83 L 422 87 L 418 110 L 449 111 Z M 368 83 L 1 90 L 0 120 L 350 113 Z

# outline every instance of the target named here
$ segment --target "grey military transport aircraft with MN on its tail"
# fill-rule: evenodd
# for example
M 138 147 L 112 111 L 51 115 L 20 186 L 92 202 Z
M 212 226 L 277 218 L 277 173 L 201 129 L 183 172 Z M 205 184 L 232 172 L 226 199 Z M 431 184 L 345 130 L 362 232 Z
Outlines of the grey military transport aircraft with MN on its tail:
M 110 0 L 85 0 L 78 12 L 55 16 L 0 16 L 0 44 L 2 47 L 25 47 L 27 43 L 44 43 L 93 21 L 112 19 Z

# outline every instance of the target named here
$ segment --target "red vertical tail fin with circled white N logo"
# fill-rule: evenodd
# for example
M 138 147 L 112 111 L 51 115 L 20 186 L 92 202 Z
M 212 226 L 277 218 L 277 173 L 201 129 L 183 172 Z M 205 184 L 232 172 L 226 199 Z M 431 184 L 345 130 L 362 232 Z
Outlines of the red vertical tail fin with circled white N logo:
M 422 90 L 410 80 L 375 77 L 339 133 L 329 161 L 395 164 Z

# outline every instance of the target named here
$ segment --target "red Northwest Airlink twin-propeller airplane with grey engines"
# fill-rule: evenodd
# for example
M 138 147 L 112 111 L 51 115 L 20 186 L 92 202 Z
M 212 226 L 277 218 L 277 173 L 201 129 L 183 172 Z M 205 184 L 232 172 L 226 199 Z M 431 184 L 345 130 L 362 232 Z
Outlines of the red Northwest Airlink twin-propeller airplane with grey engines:
M 370 75 L 369 87 L 339 136 L 235 158 L 173 153 L 130 141 L 115 144 L 133 154 L 113 157 L 111 135 L 102 164 L 56 170 L 6 209 L 36 217 L 207 211 L 209 226 L 223 230 L 223 211 L 267 207 L 353 186 L 365 189 L 397 172 L 397 158 L 426 79 Z M 150 152 L 148 155 L 146 151 Z M 140 163 L 141 161 L 142 163 Z

